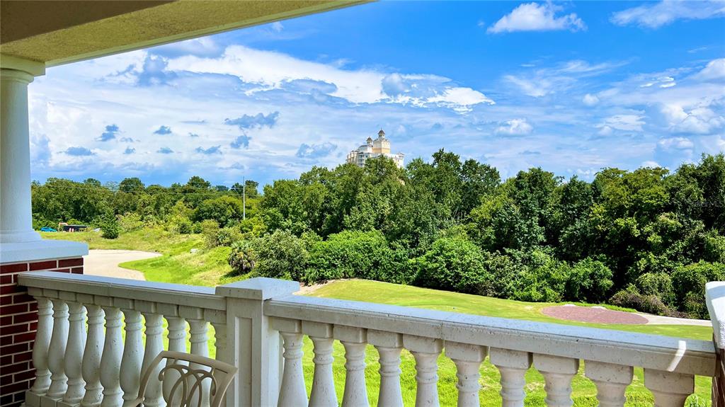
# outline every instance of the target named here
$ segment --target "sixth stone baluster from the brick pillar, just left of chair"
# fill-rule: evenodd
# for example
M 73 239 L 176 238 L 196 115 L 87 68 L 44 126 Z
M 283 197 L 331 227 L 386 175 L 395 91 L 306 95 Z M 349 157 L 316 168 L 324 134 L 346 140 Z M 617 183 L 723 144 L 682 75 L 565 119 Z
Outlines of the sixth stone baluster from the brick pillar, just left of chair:
M 123 407 L 133 406 L 141 385 L 141 363 L 144 360 L 144 338 L 141 336 L 141 313 L 133 309 L 133 301 L 123 309 L 126 338 L 121 357 L 120 384 L 123 390 Z M 152 380 L 155 380 L 152 377 Z

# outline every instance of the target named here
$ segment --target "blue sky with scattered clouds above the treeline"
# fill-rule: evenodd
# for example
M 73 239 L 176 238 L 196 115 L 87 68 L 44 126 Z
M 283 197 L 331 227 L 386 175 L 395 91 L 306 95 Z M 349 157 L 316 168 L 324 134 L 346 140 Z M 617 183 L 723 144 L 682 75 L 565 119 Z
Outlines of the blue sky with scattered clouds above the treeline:
M 382 127 L 591 180 L 725 150 L 725 2 L 381 1 L 47 70 L 33 179 L 231 185 L 334 167 Z

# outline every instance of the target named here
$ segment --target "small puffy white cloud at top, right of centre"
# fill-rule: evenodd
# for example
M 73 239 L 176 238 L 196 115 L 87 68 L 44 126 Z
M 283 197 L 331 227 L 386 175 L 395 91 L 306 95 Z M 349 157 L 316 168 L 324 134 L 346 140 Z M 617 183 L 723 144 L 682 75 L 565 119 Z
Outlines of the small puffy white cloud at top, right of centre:
M 551 2 L 545 4 L 526 3 L 513 9 L 489 27 L 489 33 L 513 33 L 515 31 L 586 30 L 587 25 L 576 13 L 556 16 L 563 7 Z

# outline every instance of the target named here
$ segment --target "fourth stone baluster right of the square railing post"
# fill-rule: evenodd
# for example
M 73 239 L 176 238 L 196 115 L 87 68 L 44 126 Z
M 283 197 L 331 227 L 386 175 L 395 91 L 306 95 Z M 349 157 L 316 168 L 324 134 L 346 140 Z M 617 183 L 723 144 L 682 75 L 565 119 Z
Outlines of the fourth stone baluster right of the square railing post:
M 403 398 L 400 391 L 402 335 L 395 332 L 368 330 L 368 343 L 375 346 L 380 355 L 378 406 L 402 407 Z

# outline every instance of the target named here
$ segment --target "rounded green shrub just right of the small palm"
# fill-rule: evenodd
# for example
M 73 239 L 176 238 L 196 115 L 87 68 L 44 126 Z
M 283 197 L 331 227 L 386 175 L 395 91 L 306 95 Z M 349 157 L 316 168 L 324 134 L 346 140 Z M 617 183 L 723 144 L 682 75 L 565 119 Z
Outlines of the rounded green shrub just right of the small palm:
M 254 241 L 252 248 L 257 256 L 254 264 L 261 277 L 304 280 L 307 264 L 305 242 L 287 230 L 276 230 Z

